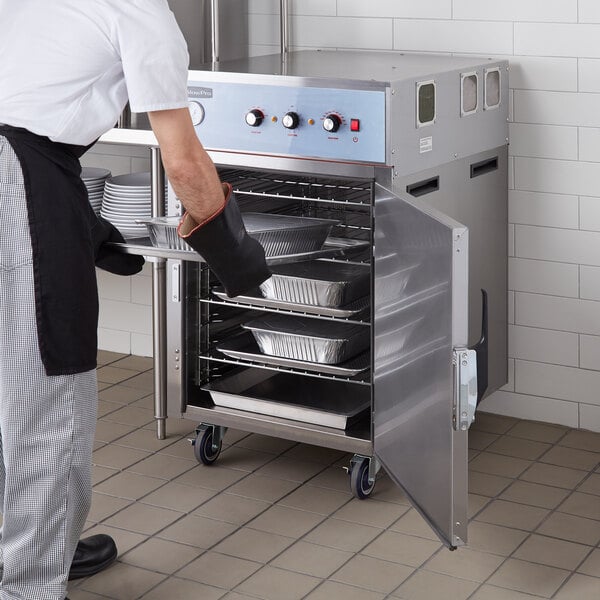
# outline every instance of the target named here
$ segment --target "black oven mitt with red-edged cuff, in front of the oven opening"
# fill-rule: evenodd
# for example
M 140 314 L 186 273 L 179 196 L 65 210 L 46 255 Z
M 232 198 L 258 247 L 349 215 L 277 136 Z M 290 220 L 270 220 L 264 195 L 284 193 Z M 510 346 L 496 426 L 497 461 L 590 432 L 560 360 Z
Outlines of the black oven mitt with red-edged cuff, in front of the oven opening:
M 257 288 L 271 272 L 264 248 L 244 227 L 231 185 L 224 183 L 223 191 L 225 204 L 218 213 L 200 224 L 185 213 L 177 233 L 204 258 L 233 298 Z

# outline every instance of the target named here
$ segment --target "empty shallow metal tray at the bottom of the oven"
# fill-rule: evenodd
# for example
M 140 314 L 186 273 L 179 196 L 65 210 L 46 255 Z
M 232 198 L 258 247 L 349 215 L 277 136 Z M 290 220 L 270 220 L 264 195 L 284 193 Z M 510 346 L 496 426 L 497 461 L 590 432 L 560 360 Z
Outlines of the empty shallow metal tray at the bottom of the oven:
M 368 386 L 244 369 L 202 389 L 217 406 L 347 429 L 371 406 Z

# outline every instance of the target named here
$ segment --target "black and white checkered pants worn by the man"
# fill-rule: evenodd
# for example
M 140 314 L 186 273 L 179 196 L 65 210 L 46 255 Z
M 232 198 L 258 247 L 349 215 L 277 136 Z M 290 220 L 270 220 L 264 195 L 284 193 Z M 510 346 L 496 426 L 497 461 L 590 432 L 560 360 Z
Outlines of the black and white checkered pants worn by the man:
M 0 136 L 0 600 L 65 597 L 91 502 L 96 372 L 46 375 L 35 310 L 23 175 Z

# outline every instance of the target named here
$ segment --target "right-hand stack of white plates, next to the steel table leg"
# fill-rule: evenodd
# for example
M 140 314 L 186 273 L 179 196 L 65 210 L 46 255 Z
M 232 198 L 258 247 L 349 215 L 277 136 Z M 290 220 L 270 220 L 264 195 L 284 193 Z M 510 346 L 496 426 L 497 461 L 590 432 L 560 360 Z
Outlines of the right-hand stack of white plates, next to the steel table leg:
M 130 173 L 107 179 L 100 214 L 123 237 L 146 237 L 146 225 L 139 221 L 152 216 L 150 173 Z

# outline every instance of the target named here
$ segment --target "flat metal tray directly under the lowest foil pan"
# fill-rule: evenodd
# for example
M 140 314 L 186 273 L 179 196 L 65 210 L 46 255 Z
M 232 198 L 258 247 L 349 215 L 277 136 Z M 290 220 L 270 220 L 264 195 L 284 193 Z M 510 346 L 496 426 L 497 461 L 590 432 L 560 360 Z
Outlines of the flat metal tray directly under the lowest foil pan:
M 232 358 L 240 360 L 248 360 L 276 367 L 292 367 L 295 369 L 315 371 L 316 373 L 340 375 L 342 377 L 354 377 L 355 375 L 366 371 L 370 366 L 370 356 L 368 352 L 359 354 L 357 357 L 340 365 L 319 364 L 293 360 L 291 358 L 281 358 L 279 356 L 269 356 L 261 353 L 254 337 L 250 333 L 243 333 L 228 338 L 223 342 L 218 343 L 216 348 L 226 356 L 231 356 Z

